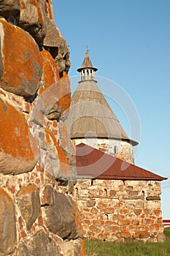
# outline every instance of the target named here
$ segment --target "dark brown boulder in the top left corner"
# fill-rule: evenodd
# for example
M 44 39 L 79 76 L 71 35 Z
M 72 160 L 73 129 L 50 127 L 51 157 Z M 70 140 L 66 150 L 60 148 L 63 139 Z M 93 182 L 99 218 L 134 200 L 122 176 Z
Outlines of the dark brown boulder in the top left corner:
M 20 11 L 20 1 L 18 0 L 1 0 L 0 16 L 10 17 Z

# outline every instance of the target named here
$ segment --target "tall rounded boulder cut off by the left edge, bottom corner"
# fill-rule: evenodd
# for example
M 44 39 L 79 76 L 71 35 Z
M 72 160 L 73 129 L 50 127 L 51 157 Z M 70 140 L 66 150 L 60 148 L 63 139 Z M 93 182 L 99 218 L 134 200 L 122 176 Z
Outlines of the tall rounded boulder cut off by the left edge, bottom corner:
M 0 205 L 0 255 L 9 255 L 17 242 L 15 206 L 4 189 L 0 189 Z

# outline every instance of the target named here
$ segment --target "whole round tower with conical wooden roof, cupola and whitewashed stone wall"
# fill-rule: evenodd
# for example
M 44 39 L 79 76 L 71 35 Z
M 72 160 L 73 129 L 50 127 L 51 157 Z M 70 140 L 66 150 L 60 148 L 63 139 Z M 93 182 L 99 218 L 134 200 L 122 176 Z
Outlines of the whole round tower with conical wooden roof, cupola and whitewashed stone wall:
M 134 164 L 133 146 L 137 143 L 128 138 L 120 122 L 109 107 L 107 100 L 98 88 L 95 72 L 88 50 L 80 72 L 79 85 L 72 96 L 66 127 L 75 145 L 88 146 L 112 154 Z

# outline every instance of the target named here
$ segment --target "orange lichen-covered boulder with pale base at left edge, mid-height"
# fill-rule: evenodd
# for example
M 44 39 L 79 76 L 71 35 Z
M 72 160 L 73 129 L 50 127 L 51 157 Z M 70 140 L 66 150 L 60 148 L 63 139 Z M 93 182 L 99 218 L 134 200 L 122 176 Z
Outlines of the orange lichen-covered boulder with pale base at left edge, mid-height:
M 0 113 L 0 173 L 7 175 L 33 170 L 38 148 L 29 135 L 25 116 L 2 99 Z

